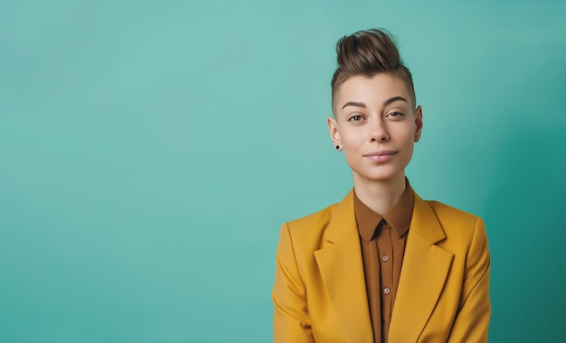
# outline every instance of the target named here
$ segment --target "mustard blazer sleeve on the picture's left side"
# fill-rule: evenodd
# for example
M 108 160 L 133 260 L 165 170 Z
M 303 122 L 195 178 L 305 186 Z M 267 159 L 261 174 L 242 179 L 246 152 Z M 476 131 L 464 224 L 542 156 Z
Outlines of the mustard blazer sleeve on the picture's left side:
M 280 230 L 276 260 L 275 285 L 271 293 L 273 342 L 313 343 L 307 292 L 287 224 Z

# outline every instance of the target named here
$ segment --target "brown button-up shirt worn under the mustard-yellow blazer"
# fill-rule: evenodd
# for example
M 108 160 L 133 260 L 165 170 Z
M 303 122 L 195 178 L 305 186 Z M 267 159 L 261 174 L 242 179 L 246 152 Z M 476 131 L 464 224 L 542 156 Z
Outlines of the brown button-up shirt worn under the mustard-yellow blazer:
M 387 342 L 401 277 L 414 201 L 409 181 L 406 184 L 401 199 L 384 217 L 365 206 L 354 191 L 354 213 L 360 233 L 365 288 L 375 343 Z

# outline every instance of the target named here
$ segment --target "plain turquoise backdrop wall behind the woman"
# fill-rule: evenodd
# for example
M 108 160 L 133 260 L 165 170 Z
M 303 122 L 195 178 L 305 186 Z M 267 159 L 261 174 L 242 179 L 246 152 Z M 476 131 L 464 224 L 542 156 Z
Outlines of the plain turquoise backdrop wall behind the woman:
M 0 3 L 0 342 L 268 342 L 280 224 L 352 187 L 335 42 L 385 27 L 413 187 L 486 219 L 490 341 L 566 336 L 566 5 Z

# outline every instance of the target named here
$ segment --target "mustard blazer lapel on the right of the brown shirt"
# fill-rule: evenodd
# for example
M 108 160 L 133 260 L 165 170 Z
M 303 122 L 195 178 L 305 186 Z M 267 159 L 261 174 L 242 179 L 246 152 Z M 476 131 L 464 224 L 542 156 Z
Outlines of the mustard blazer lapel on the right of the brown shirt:
M 429 204 L 414 194 L 414 209 L 401 279 L 391 315 L 389 340 L 416 342 L 448 277 L 452 253 L 435 246 L 446 238 Z

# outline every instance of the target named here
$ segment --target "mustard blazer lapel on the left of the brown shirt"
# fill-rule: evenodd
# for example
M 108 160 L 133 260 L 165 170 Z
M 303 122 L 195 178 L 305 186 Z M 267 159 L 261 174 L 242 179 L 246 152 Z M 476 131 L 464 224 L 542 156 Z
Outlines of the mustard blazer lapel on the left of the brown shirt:
M 373 342 L 352 191 L 331 216 L 325 232 L 330 244 L 315 252 L 316 263 L 348 340 Z

